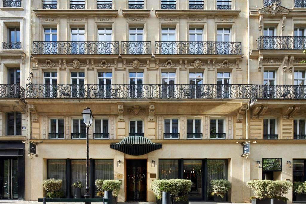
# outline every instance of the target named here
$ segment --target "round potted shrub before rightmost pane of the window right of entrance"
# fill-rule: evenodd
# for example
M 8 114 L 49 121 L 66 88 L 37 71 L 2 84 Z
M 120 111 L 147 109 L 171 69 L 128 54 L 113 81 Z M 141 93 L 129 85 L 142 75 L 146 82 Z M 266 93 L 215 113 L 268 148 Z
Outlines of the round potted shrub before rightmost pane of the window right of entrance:
M 228 180 L 211 180 L 211 196 L 214 196 L 216 202 L 226 202 L 227 191 L 231 188 L 231 183 Z

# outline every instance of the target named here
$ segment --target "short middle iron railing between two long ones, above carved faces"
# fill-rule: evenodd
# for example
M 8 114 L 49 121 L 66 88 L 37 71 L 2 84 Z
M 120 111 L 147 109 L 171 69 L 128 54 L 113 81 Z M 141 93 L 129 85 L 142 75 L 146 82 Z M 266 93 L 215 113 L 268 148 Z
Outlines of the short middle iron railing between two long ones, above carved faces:
M 121 54 L 151 54 L 150 41 L 123 41 Z

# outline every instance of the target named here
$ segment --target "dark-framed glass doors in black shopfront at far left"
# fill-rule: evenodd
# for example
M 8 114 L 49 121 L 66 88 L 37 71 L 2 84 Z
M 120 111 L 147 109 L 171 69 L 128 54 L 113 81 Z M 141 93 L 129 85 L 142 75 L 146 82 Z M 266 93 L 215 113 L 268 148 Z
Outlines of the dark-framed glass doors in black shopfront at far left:
M 0 199 L 18 199 L 18 161 L 0 160 Z

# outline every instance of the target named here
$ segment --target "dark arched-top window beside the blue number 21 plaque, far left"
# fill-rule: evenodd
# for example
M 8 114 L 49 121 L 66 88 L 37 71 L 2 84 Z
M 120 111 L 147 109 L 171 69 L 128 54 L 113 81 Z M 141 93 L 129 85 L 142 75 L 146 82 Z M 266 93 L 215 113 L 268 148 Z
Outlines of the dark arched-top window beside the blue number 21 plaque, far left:
M 7 113 L 6 127 L 6 135 L 21 135 L 21 113 Z

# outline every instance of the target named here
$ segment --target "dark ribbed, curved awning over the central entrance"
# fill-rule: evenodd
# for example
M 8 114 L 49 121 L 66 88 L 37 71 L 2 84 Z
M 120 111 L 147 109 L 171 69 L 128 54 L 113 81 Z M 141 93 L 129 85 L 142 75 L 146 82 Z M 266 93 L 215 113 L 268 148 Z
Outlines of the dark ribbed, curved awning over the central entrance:
M 162 144 L 152 143 L 151 140 L 142 136 L 125 137 L 117 144 L 110 144 L 110 148 L 125 154 L 139 156 L 162 148 Z

